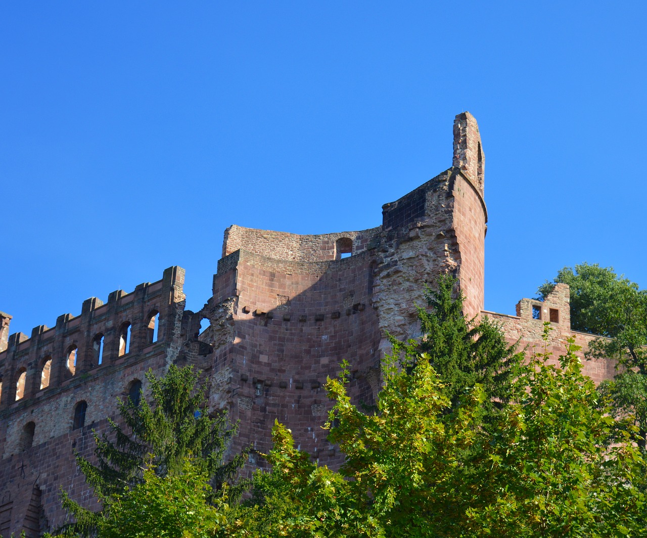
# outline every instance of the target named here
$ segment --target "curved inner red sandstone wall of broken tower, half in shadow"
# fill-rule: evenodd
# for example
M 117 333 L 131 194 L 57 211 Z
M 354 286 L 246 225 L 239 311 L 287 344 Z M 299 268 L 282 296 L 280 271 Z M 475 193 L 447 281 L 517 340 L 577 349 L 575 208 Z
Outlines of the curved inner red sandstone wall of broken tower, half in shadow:
M 356 372 L 351 391 L 373 403 L 380 331 L 369 308 L 370 252 L 330 262 L 289 262 L 247 251 L 237 258 L 236 269 L 215 278 L 214 303 L 234 294 L 237 299 L 232 341 L 215 361 L 218 382 L 230 381 L 212 405 L 230 405 L 232 418 L 241 419 L 238 446 L 267 453 L 276 418 L 302 449 L 339 464 L 320 428 L 331 407 L 323 384 L 347 359 Z

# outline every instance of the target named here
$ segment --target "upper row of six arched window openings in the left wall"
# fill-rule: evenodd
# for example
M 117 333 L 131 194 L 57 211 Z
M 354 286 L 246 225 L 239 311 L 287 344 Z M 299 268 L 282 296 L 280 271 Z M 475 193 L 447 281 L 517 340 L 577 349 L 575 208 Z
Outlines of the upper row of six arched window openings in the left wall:
M 146 340 L 148 344 L 153 344 L 157 342 L 159 329 L 159 312 L 155 311 L 151 313 L 148 324 L 146 325 Z M 130 352 L 130 337 L 131 334 L 131 324 L 130 322 L 125 322 L 122 324 L 119 330 L 119 350 L 118 356 L 122 357 Z M 94 351 L 93 363 L 96 366 L 100 366 L 103 363 L 104 359 L 104 340 L 105 337 L 102 333 L 98 333 L 94 336 L 92 341 L 92 349 Z M 67 370 L 72 374 L 76 374 L 76 363 L 78 359 L 78 347 L 75 345 L 67 348 L 67 359 L 65 365 Z M 43 367 L 41 368 L 41 379 L 40 379 L 40 390 L 43 388 L 49 387 L 50 382 L 50 372 L 52 370 L 52 357 L 47 356 L 44 359 Z M 17 372 L 16 379 L 16 401 L 22 399 L 25 396 L 25 383 L 27 381 L 27 368 L 21 368 Z M 2 398 L 2 381 L 0 381 L 0 398 Z

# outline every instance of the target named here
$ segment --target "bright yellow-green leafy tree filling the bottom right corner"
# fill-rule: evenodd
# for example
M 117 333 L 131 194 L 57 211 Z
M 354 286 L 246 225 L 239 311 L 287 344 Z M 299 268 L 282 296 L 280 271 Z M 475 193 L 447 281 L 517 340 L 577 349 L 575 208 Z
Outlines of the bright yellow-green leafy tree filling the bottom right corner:
M 578 349 L 569 339 L 560 366 L 536 353 L 516 381 L 484 454 L 491 466 L 479 475 L 490 500 L 468 510 L 474 535 L 646 535 L 644 461 L 627 428 L 614 436 L 616 421 L 582 375 Z

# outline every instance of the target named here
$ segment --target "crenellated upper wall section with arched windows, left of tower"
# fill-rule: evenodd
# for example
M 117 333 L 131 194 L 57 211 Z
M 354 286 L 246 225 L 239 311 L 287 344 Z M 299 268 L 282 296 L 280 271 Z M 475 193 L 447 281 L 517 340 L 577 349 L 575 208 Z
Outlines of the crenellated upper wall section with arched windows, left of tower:
M 52 328 L 34 327 L 30 337 L 9 335 L 0 352 L 0 410 L 168 344 L 183 286 L 184 269 L 169 267 L 161 280 L 139 284 L 131 293 L 113 291 L 105 304 L 96 297 L 83 301 L 80 315 L 60 315 Z M 7 330 L 10 317 L 0 317 Z

